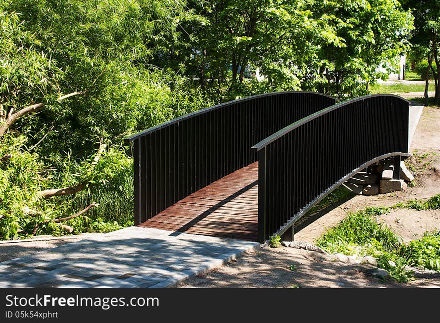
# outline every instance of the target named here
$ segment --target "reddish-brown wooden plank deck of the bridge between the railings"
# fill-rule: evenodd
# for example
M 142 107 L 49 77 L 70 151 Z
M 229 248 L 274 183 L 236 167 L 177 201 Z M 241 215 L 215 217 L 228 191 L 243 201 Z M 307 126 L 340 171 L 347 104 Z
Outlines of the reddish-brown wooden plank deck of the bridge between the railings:
M 181 199 L 139 226 L 256 241 L 257 209 L 255 162 Z

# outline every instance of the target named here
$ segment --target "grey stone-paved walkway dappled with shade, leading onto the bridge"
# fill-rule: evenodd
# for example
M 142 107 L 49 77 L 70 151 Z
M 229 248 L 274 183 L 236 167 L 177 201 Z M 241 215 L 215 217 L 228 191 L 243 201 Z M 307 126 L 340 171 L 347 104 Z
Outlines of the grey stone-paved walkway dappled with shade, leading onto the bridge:
M 256 247 L 129 227 L 0 262 L 0 287 L 169 287 Z

